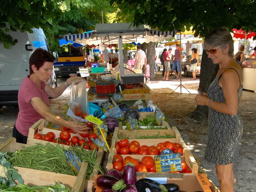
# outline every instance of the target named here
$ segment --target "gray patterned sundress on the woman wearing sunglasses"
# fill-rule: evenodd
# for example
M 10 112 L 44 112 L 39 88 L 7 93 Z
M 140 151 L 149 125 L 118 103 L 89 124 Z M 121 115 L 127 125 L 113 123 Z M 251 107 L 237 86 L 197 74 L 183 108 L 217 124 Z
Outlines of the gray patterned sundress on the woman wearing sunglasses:
M 237 72 L 236 69 L 234 70 Z M 220 103 L 225 102 L 222 88 L 219 86 L 219 79 L 222 74 L 212 81 L 207 91 L 210 99 Z M 238 104 L 242 95 L 242 90 L 243 89 L 240 85 L 240 88 L 237 90 Z M 239 115 L 239 111 L 237 111 L 236 115 L 229 115 L 209 108 L 208 121 L 209 133 L 205 150 L 205 159 L 218 165 L 227 165 L 232 163 L 238 156 L 239 142 L 243 133 L 243 122 Z

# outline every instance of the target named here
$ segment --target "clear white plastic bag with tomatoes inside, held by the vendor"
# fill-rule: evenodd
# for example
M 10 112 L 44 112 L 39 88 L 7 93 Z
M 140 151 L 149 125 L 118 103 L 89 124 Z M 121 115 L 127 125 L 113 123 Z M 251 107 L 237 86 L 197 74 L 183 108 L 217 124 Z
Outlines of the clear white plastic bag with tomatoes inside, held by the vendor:
M 84 119 L 85 116 L 90 115 L 90 109 L 86 94 L 86 81 L 81 81 L 78 84 L 72 83 L 70 88 L 69 108 L 74 115 Z

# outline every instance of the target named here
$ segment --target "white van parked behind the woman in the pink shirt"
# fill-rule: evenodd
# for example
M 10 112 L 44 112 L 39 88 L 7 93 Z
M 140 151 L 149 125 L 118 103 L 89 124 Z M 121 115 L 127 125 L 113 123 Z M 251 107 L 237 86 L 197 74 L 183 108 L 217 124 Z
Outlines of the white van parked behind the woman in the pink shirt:
M 18 40 L 16 45 L 6 49 L 3 43 L 0 44 L 0 105 L 18 103 L 20 83 L 29 74 L 29 57 L 37 48 L 49 51 L 44 31 L 41 28 L 32 30 L 34 33 L 9 31 L 8 34 Z M 56 85 L 54 70 L 47 84 Z

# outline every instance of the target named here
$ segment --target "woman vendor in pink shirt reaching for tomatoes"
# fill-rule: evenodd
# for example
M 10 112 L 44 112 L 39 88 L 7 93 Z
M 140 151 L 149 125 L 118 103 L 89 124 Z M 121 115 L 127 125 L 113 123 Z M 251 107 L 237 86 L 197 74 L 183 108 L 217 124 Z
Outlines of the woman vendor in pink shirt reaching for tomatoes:
M 51 78 L 55 58 L 44 49 L 36 49 L 29 58 L 29 75 L 26 76 L 18 91 L 18 118 L 13 127 L 13 137 L 18 143 L 27 143 L 29 127 L 39 119 L 46 119 L 57 125 L 72 129 L 78 136 L 89 129 L 75 121 L 66 121 L 49 109 L 49 97 L 59 97 L 73 81 L 80 82 L 82 77 L 70 77 L 54 89 L 45 84 Z

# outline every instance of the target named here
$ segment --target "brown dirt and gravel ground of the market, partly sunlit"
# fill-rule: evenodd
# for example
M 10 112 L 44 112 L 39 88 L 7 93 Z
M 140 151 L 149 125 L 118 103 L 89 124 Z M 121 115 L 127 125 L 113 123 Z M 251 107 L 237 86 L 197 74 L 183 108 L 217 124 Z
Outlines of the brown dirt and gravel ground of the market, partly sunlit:
M 204 150 L 207 143 L 208 121 L 196 122 L 187 118 L 187 114 L 196 109 L 194 99 L 199 85 L 192 77 L 182 76 L 182 93 L 179 94 L 180 81 L 174 80 L 174 76 L 169 77 L 169 81 L 162 81 L 162 72 L 155 74 L 155 81 L 147 83 L 152 89 L 152 101 L 156 104 L 168 118 L 170 126 L 176 126 L 182 135 L 183 140 L 190 148 L 191 152 L 200 159 L 200 166 L 207 173 L 208 177 L 219 186 L 215 173 L 215 165 L 204 159 Z M 58 83 L 63 82 L 58 79 Z M 253 82 L 254 83 L 254 82 Z M 176 89 L 175 92 L 173 90 Z M 173 92 L 173 93 L 172 93 Z M 64 117 L 63 105 L 69 100 L 68 90 L 65 94 L 56 99 L 50 100 L 50 109 Z M 239 112 L 243 120 L 243 136 L 240 143 L 240 158 L 234 162 L 235 191 L 255 191 L 256 189 L 256 93 L 248 90 L 243 91 L 243 99 L 239 106 Z M 0 109 L 0 144 L 12 135 L 12 127 L 18 114 L 17 106 L 8 106 Z

